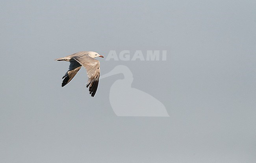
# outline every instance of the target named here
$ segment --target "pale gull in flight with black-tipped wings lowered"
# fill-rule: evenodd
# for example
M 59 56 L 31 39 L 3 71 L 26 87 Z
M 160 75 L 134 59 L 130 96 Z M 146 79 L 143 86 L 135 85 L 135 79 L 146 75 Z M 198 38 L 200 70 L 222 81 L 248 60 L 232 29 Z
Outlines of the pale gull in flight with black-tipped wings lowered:
M 94 97 L 98 88 L 99 78 L 100 78 L 100 61 L 94 59 L 96 57 L 104 58 L 102 55 L 99 55 L 94 51 L 81 51 L 81 52 L 69 55 L 67 57 L 55 59 L 57 61 L 70 62 L 69 70 L 62 77 L 63 82 L 61 86 L 63 87 L 67 85 L 83 66 L 86 69 L 87 76 L 88 76 L 88 82 L 86 87 L 88 88 L 89 86 L 89 92 L 91 96 Z

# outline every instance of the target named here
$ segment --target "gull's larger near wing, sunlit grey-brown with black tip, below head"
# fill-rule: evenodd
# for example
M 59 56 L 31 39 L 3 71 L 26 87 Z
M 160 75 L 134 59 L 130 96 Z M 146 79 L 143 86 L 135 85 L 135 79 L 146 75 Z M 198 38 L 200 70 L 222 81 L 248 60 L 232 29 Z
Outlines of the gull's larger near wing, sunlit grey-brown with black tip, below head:
M 100 78 L 100 61 L 84 55 L 82 57 L 73 57 L 77 62 L 79 62 L 83 67 L 85 67 L 88 76 L 88 82 L 86 87 L 89 86 L 89 92 L 92 97 L 94 97 Z

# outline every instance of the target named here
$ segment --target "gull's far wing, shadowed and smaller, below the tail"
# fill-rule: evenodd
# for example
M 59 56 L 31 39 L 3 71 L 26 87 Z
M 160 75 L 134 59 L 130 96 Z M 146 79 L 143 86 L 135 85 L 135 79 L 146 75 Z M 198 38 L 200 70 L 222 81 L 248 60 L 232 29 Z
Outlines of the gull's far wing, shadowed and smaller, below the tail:
M 73 77 L 76 75 L 76 73 L 81 69 L 82 65 L 80 63 L 78 63 L 76 60 L 74 59 L 70 59 L 69 60 L 70 65 L 69 65 L 69 70 L 66 72 L 66 74 L 62 77 L 63 82 L 61 84 L 61 86 L 65 86 L 66 84 L 68 84 Z

